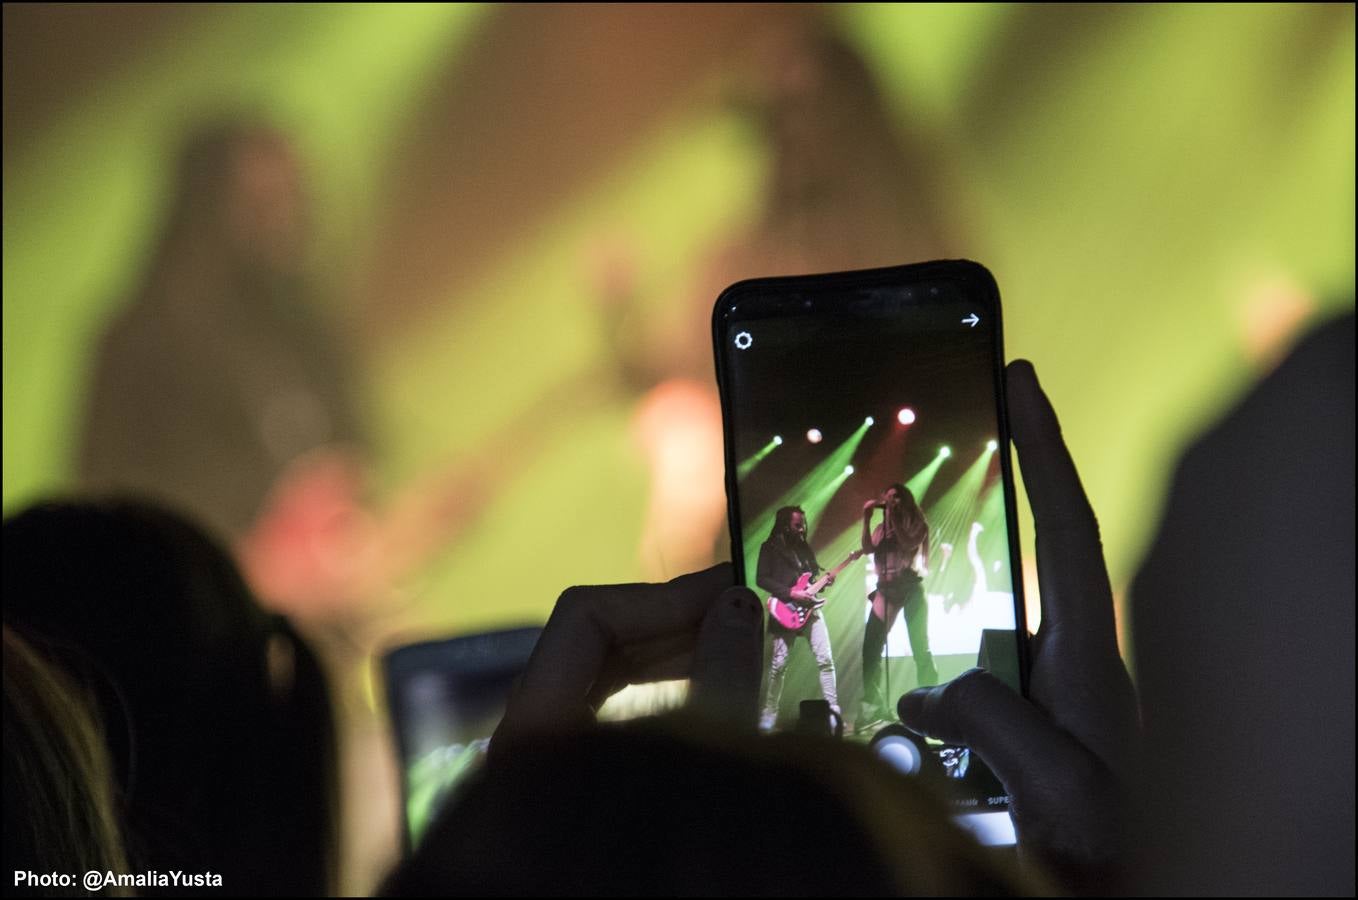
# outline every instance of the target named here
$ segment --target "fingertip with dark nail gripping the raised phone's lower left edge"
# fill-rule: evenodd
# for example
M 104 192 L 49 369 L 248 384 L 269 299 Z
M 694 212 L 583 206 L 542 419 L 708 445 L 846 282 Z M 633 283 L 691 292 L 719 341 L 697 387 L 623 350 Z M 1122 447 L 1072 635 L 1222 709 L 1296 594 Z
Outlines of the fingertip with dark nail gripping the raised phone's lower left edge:
M 754 730 L 763 680 L 763 607 L 750 588 L 727 588 L 698 633 L 689 705 L 736 729 Z

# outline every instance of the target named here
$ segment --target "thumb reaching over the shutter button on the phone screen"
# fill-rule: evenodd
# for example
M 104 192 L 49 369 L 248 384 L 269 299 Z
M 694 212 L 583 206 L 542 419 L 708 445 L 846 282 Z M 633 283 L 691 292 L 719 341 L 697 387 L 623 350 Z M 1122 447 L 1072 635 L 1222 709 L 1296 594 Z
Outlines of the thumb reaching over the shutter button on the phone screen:
M 1088 755 L 1070 734 L 985 669 L 910 691 L 896 711 L 914 732 L 971 748 L 1010 795 L 1021 797 L 1032 783 L 1050 783 L 1086 764 Z

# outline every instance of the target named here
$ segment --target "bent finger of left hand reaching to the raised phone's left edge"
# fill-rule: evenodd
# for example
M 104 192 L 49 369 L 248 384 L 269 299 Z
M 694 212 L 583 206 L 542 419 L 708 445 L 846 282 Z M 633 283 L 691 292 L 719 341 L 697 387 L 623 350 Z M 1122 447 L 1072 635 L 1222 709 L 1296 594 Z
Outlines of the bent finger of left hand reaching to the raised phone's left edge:
M 733 581 L 731 563 L 722 563 L 659 585 L 569 588 L 557 599 L 497 734 L 561 730 L 592 721 L 589 700 L 611 650 L 697 634 L 716 597 Z

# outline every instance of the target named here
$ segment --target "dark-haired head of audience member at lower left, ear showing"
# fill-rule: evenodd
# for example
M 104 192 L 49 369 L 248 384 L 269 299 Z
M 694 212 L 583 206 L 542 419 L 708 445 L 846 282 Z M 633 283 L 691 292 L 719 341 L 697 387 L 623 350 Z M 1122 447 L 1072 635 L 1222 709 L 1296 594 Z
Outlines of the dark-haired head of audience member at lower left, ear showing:
M 325 676 L 224 548 L 122 502 L 42 504 L 3 535 L 5 622 L 98 699 L 134 869 L 212 871 L 238 895 L 334 890 Z

